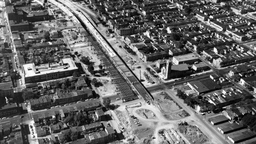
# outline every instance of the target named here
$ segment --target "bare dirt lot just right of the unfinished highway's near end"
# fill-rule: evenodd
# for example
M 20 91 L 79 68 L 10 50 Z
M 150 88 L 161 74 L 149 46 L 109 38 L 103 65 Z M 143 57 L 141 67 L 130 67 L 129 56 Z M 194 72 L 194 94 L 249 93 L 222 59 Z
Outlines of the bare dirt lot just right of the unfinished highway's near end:
M 156 92 L 152 94 L 156 100 L 156 105 L 162 113 L 170 113 L 181 109 L 181 107 L 165 92 Z

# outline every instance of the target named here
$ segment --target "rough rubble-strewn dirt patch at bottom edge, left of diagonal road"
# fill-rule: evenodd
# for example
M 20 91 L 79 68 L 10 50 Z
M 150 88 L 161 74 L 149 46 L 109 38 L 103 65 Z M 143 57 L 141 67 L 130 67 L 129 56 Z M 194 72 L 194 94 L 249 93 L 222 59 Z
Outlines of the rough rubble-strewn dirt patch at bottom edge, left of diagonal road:
M 191 144 L 204 144 L 208 142 L 208 138 L 194 125 L 180 125 L 178 129 Z

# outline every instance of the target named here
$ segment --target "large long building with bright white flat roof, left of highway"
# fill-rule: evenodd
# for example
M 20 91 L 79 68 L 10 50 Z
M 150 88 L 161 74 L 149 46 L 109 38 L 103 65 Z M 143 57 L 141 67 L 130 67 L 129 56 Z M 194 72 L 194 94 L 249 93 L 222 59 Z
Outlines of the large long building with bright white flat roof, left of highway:
M 48 63 L 41 66 L 35 66 L 34 63 L 22 64 L 22 73 L 25 77 L 25 83 L 67 77 L 71 76 L 77 70 L 78 68 L 71 57 L 62 58 L 57 64 Z

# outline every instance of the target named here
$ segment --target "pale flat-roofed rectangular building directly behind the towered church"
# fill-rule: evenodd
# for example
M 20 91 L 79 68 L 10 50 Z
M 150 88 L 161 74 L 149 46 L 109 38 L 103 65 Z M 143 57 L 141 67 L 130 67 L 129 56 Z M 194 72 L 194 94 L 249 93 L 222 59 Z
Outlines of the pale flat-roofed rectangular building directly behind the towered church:
M 195 62 L 199 61 L 199 59 L 194 54 L 187 54 L 187 55 L 181 55 L 181 56 L 174 56 L 172 62 L 175 65 L 178 64 L 193 64 Z

